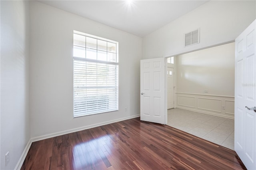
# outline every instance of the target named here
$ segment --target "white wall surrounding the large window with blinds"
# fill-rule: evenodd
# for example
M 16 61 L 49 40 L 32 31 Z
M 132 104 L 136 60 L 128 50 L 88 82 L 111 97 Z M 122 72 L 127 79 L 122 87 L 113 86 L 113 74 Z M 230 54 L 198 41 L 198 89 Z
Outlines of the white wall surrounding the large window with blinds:
M 30 6 L 32 138 L 138 116 L 142 38 L 40 2 Z M 73 118 L 73 30 L 119 42 L 119 111 Z

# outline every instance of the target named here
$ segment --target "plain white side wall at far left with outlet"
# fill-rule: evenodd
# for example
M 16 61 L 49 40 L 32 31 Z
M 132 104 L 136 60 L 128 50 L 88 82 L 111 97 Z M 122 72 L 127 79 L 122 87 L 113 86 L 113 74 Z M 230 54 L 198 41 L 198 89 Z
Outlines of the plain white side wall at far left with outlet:
M 29 2 L 1 1 L 1 170 L 13 170 L 30 140 Z M 4 155 L 10 152 L 5 166 Z

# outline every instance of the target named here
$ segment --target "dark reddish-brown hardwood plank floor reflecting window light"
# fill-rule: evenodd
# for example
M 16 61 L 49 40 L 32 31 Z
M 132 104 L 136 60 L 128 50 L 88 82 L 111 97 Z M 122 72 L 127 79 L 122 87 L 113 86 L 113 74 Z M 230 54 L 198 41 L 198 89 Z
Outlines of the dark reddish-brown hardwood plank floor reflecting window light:
M 233 150 L 170 126 L 124 120 L 33 142 L 22 170 L 242 170 Z

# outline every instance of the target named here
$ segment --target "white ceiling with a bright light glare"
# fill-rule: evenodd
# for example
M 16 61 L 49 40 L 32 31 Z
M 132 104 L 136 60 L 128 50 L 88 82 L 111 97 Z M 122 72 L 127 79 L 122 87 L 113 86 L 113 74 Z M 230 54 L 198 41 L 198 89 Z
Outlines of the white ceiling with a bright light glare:
M 144 37 L 206 0 L 39 0 L 44 4 Z

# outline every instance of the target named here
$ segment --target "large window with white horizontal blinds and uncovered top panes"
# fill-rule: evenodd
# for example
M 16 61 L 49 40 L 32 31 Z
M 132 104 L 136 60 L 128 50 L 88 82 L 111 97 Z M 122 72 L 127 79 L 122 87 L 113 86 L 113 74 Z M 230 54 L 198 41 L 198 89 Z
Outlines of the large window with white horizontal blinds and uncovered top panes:
M 74 117 L 118 110 L 118 42 L 73 35 Z

